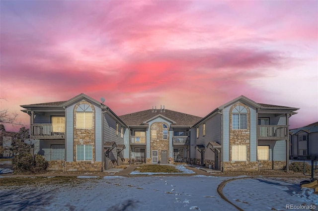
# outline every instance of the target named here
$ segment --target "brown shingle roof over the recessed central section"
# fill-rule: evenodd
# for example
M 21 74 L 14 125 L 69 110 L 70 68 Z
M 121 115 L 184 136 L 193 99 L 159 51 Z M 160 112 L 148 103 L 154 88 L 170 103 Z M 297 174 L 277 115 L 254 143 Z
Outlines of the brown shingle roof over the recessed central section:
M 160 112 L 160 109 L 157 109 L 157 112 L 153 112 L 152 109 L 143 110 L 135 113 L 121 115 L 119 116 L 119 118 L 122 119 L 127 125 L 142 125 L 144 121 L 149 120 L 159 114 L 175 121 L 176 125 L 191 126 L 202 119 L 202 117 L 199 116 L 194 116 L 168 109 L 165 109 L 164 112 Z

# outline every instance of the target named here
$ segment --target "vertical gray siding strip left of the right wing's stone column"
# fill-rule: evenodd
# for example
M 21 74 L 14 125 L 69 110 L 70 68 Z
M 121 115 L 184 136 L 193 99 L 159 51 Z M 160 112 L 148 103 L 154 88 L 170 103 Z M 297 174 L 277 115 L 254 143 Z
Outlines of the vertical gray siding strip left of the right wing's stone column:
M 230 160 L 230 106 L 223 109 L 223 161 Z

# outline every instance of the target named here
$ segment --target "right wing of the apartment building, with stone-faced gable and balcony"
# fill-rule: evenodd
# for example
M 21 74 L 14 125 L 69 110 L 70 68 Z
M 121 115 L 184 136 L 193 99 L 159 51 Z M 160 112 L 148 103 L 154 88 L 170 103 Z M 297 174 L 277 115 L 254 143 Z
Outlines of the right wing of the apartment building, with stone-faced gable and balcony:
M 289 117 L 297 109 L 240 96 L 192 126 L 191 161 L 224 171 L 286 168 Z

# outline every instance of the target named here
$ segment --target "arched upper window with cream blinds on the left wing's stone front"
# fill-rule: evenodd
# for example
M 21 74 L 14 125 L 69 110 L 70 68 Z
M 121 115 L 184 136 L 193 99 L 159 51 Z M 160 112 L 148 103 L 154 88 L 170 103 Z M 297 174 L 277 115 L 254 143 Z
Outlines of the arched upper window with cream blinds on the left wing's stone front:
M 87 104 L 81 104 L 76 109 L 76 128 L 92 129 L 93 128 L 93 110 Z

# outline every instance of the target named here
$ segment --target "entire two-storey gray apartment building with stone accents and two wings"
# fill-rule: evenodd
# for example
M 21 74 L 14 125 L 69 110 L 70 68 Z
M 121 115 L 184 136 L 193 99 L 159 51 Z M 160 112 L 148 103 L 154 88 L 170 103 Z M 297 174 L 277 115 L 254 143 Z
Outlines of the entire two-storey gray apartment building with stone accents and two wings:
M 35 153 L 49 161 L 49 170 L 66 171 L 174 162 L 222 170 L 281 169 L 289 157 L 289 117 L 299 109 L 240 96 L 204 118 L 164 106 L 118 117 L 84 94 L 22 107 L 30 115 Z

